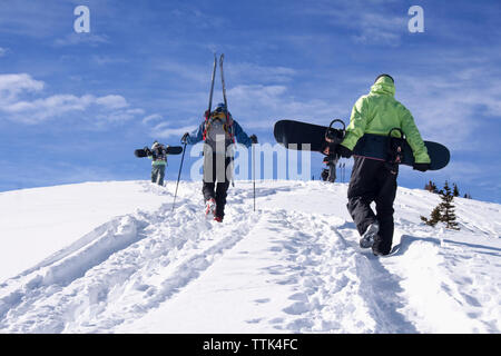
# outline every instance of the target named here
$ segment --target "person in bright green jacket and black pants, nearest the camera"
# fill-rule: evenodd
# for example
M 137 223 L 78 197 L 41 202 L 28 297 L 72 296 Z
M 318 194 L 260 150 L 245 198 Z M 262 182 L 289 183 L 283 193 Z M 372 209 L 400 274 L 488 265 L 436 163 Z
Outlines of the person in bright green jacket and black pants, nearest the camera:
M 357 140 L 364 134 L 387 136 L 393 128 L 399 128 L 412 148 L 415 161 L 413 168 L 426 171 L 431 161 L 426 147 L 411 112 L 394 99 L 394 95 L 393 78 L 390 75 L 379 76 L 370 93 L 355 102 L 346 136 L 336 148 L 337 154 L 350 158 Z M 372 247 L 376 256 L 387 255 L 391 251 L 397 174 L 397 164 L 390 165 L 382 160 L 354 157 L 347 191 L 347 209 L 362 236 L 360 246 Z M 372 201 L 375 201 L 376 214 L 371 209 Z

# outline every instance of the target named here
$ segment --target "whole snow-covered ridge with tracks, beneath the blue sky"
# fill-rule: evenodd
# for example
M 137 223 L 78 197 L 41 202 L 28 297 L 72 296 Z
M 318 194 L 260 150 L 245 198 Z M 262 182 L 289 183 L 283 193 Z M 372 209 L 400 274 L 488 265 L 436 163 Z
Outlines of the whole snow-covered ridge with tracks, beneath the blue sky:
M 223 224 L 200 188 L 180 182 L 174 212 L 174 182 L 0 194 L 0 332 L 501 330 L 500 205 L 455 198 L 461 230 L 431 228 L 439 197 L 399 188 L 400 249 L 377 258 L 357 247 L 346 185 L 259 181 L 253 212 L 237 181 Z

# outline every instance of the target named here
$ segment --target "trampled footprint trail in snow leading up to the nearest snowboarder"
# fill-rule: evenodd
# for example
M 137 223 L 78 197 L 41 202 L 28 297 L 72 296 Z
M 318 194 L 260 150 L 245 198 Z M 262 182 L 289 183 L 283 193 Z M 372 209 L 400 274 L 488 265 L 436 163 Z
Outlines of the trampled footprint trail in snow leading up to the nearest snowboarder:
M 291 305 L 283 309 L 294 317 L 275 319 L 277 330 L 415 332 L 395 312 L 400 304 L 394 296 L 397 289 L 394 276 L 374 266 L 337 231 L 334 226 L 344 220 L 281 210 L 272 222 L 281 233 L 274 248 L 283 251 L 283 264 L 273 266 L 271 273 L 281 276 L 275 283 L 291 284 L 297 290 L 288 297 Z M 380 299 L 385 303 L 379 305 Z

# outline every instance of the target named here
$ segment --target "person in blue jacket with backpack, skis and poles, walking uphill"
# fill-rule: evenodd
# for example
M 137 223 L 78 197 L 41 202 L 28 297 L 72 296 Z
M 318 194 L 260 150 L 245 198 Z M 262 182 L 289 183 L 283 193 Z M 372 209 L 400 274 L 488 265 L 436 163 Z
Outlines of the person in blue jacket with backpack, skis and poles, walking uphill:
M 214 220 L 218 222 L 225 216 L 226 196 L 233 177 L 230 146 L 235 138 L 247 148 L 257 144 L 257 137 L 248 137 L 224 103 L 218 103 L 212 112 L 207 110 L 198 129 L 191 134 L 186 132 L 181 138 L 181 142 L 188 145 L 204 141 L 202 191 L 206 202 L 205 214 L 214 215 Z

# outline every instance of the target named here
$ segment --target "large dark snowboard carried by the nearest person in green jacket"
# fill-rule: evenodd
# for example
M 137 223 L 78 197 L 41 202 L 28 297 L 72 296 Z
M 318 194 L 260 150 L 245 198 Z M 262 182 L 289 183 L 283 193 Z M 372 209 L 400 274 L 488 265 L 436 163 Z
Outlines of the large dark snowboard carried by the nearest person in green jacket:
M 328 146 L 325 138 L 326 132 L 330 132 L 331 138 L 334 137 L 332 141 L 335 144 L 341 142 L 342 137 L 344 137 L 344 122 L 335 121 L 342 122 L 343 127 L 340 129 L 333 128 L 334 121 L 331 122 L 330 127 L 326 127 L 294 120 L 279 120 L 275 122 L 274 136 L 276 141 L 285 148 L 311 150 L 326 155 L 325 148 Z M 394 162 L 389 158 L 389 147 L 393 145 L 394 140 L 390 136 L 365 134 L 353 148 L 353 155 Z M 430 170 L 442 169 L 449 164 L 451 154 L 445 146 L 432 141 L 424 141 L 424 145 L 431 159 Z M 399 147 L 399 160 L 396 162 L 412 167 L 414 155 L 411 146 L 406 140 L 401 140 Z

